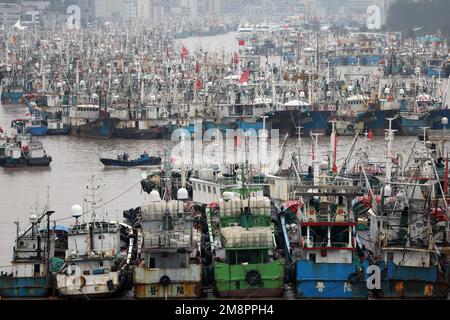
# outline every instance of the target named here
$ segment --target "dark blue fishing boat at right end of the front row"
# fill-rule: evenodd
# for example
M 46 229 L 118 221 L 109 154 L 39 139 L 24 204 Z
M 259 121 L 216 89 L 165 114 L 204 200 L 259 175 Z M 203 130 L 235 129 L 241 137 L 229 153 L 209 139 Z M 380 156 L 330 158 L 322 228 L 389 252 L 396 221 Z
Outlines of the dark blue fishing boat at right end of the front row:
M 448 268 L 433 244 L 431 188 L 422 183 L 390 183 L 383 188 L 383 201 L 370 218 L 374 245 L 365 243 L 372 251 L 368 260 L 381 270 L 375 297 L 447 299 Z

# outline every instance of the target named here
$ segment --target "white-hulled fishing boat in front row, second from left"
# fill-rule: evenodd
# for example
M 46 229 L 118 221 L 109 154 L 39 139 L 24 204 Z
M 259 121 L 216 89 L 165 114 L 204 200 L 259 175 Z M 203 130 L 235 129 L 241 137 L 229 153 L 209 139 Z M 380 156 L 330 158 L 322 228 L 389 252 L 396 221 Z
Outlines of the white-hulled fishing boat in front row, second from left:
M 82 207 L 72 207 L 76 222 L 69 229 L 65 264 L 56 275 L 56 289 L 64 298 L 107 298 L 131 289 L 132 229 L 118 222 L 99 219 L 94 193 L 91 202 L 93 209 L 87 222 L 78 220 L 83 215 Z

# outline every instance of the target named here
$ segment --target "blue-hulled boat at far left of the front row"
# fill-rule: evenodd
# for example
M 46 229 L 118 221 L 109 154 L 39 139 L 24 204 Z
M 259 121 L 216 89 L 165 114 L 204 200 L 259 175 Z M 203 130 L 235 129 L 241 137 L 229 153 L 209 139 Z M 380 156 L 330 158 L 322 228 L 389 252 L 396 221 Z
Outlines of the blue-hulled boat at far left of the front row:
M 52 265 L 55 253 L 55 236 L 50 229 L 50 216 L 54 211 L 46 211 L 40 217 L 30 217 L 31 226 L 19 233 L 14 245 L 12 273 L 2 272 L 0 276 L 0 297 L 32 298 L 48 297 L 52 293 Z M 47 219 L 45 229 L 41 223 Z

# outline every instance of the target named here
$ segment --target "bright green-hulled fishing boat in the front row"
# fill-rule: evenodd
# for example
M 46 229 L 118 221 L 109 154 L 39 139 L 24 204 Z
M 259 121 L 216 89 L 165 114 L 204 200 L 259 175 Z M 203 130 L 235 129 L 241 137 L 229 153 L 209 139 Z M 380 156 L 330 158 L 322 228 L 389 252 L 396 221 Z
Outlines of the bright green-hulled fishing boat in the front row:
M 221 298 L 279 297 L 284 290 L 284 260 L 277 256 L 272 206 L 255 197 L 241 170 L 240 188 L 208 206 L 208 236 L 215 294 Z M 260 191 L 260 190 L 257 190 Z

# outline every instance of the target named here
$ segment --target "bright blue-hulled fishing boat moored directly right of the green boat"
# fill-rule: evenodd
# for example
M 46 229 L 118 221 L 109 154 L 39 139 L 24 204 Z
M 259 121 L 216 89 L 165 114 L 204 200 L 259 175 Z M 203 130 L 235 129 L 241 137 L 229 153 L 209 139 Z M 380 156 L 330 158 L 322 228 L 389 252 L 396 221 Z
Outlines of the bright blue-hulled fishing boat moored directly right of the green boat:
M 283 226 L 284 233 L 293 233 L 296 239 L 290 242 L 296 295 L 302 299 L 367 298 L 366 268 L 355 254 L 357 217 L 351 205 L 360 188 L 351 180 L 335 182 L 323 174 L 316 169 L 314 183 L 297 187 L 303 203 L 298 207 L 298 222 Z

